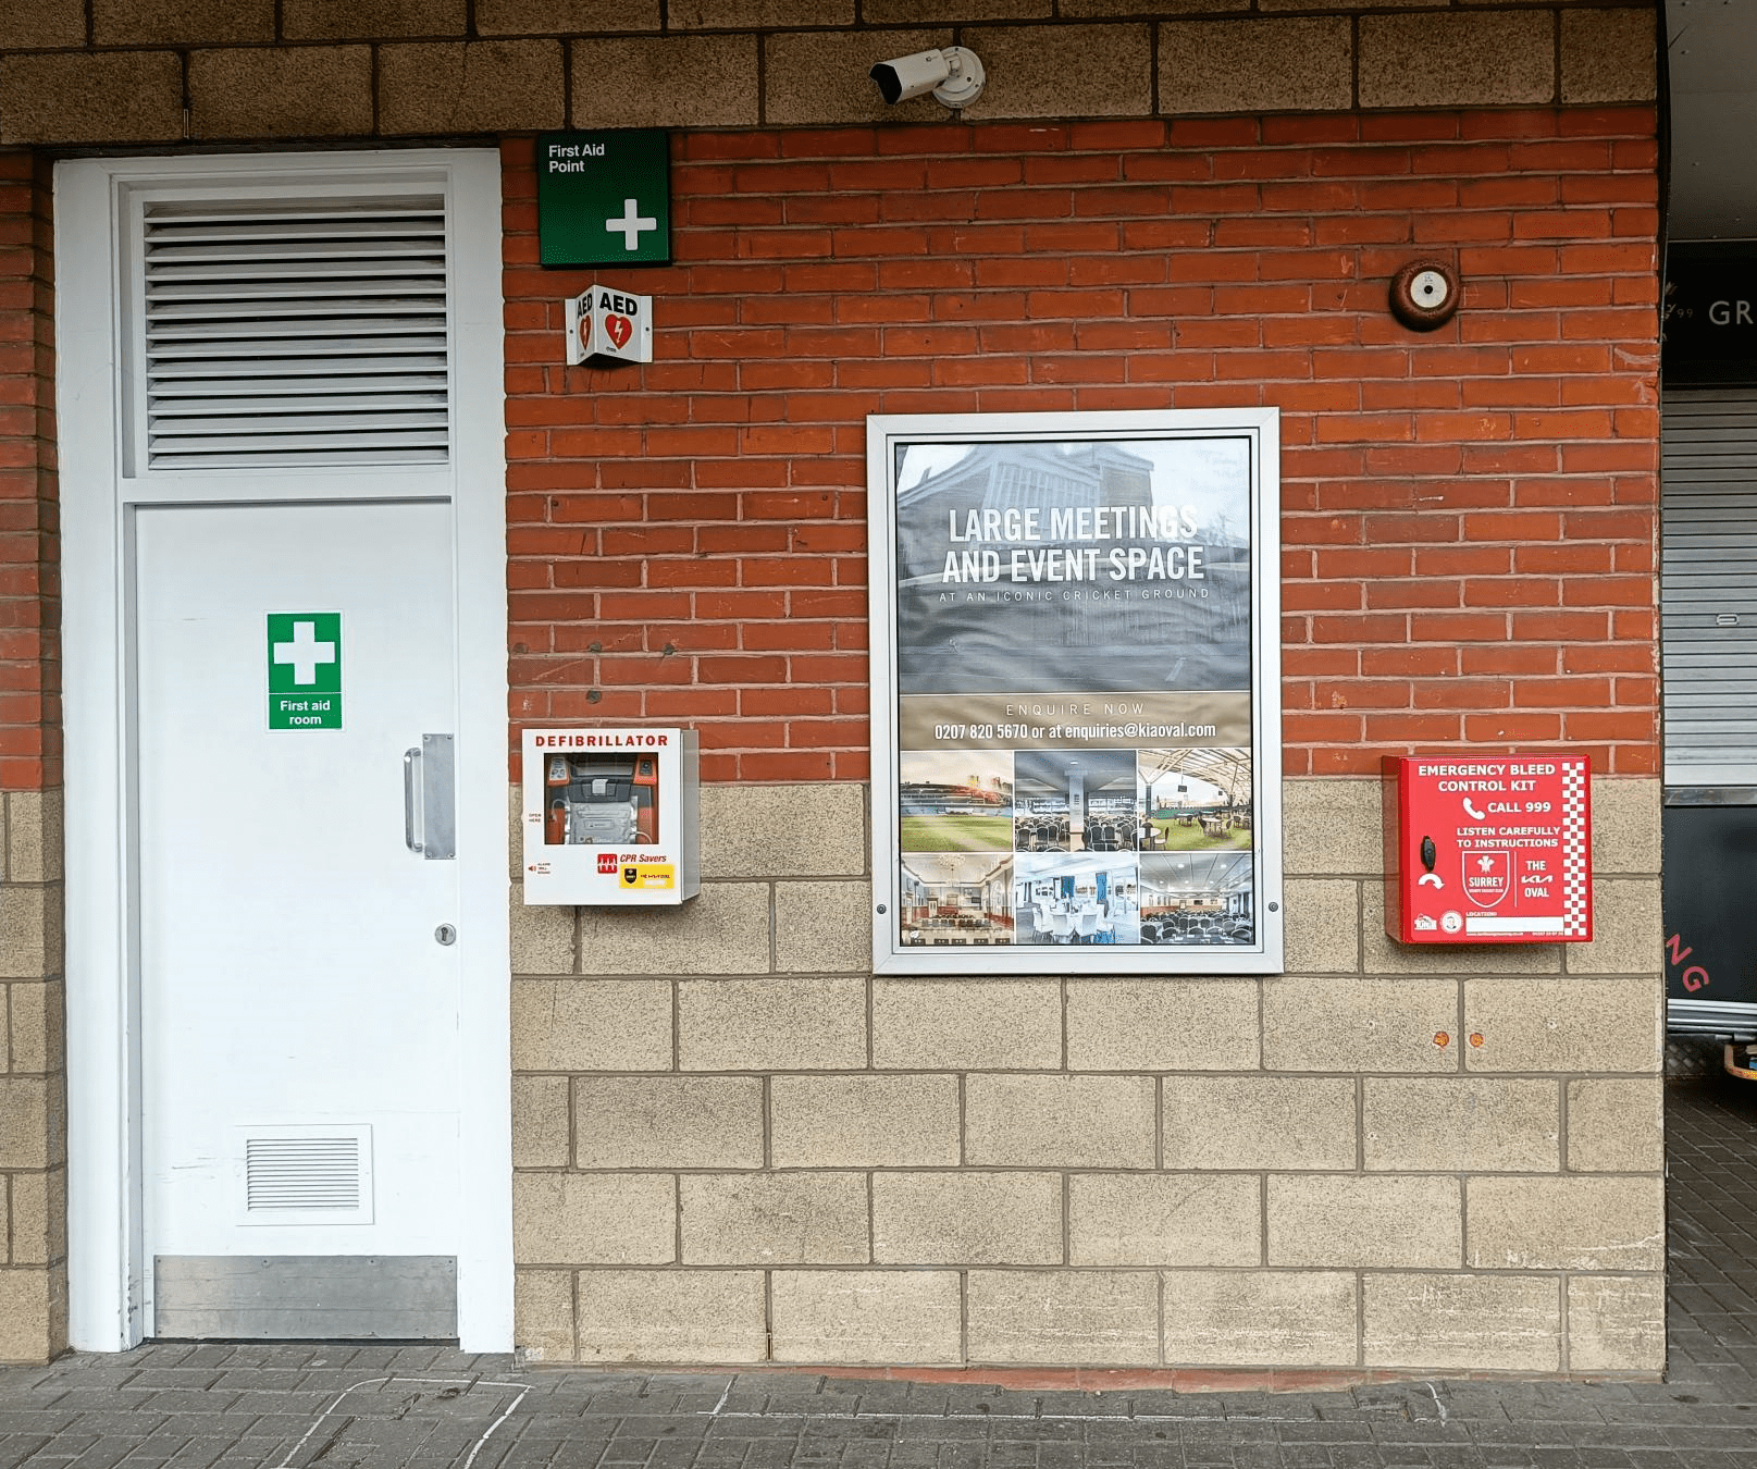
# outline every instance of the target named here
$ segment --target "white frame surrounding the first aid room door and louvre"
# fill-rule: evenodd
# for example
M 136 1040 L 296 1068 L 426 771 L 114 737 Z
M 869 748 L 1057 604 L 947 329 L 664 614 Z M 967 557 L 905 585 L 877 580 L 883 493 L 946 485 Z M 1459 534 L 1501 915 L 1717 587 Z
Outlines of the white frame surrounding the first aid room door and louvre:
M 452 487 L 459 657 L 457 949 L 459 1339 L 513 1346 L 511 1021 L 506 807 L 506 457 L 501 167 L 492 149 L 81 158 L 56 165 L 56 397 L 61 450 L 61 631 L 67 757 L 69 1341 L 123 1351 L 142 1337 L 151 1262 L 141 1228 L 139 945 L 128 872 L 134 815 L 125 657 L 128 536 L 137 504 L 237 501 L 237 481 L 123 473 L 132 341 L 123 230 L 151 186 L 297 192 L 408 186 L 448 197 Z M 255 471 L 274 499 L 274 476 Z M 299 499 L 430 497 L 434 471 L 350 469 Z

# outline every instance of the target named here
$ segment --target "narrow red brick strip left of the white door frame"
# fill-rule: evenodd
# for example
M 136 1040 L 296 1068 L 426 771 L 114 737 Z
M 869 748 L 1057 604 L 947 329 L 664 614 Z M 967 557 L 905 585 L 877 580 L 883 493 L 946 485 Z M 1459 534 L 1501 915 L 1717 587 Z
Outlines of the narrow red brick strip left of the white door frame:
M 0 151 L 0 791 L 61 784 L 49 167 Z

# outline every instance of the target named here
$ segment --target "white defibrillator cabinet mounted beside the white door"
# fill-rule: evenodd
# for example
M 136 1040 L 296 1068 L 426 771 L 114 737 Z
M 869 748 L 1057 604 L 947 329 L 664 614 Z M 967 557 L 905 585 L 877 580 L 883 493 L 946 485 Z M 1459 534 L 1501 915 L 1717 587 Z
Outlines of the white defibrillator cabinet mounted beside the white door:
M 694 729 L 527 729 L 525 903 L 664 907 L 701 891 Z

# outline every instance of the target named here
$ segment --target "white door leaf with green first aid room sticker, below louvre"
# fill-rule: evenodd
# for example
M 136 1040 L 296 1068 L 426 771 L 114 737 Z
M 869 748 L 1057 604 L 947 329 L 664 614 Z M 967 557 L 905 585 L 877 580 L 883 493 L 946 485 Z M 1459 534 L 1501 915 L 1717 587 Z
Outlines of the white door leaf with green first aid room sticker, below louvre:
M 455 1335 L 450 506 L 142 508 L 134 569 L 153 1330 Z

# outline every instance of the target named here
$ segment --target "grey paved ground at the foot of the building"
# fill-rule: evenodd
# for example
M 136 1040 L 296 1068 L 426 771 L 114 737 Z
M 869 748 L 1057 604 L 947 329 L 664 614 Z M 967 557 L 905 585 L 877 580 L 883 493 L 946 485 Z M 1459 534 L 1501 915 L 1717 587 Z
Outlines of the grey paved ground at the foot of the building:
M 1666 1383 L 1031 1390 L 146 1346 L 0 1371 L 0 1469 L 1757 1469 L 1757 1084 L 1673 1086 Z

